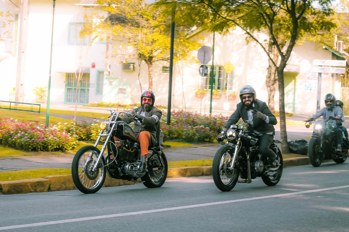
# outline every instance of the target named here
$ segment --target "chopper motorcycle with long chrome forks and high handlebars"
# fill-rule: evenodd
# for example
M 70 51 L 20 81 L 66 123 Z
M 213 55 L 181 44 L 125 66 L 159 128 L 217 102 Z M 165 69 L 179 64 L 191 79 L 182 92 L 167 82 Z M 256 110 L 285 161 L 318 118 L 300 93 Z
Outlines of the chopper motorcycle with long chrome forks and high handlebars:
M 130 113 L 132 110 L 116 112 L 110 108 L 108 119 L 100 124 L 101 131 L 95 144 L 83 146 L 76 152 L 72 162 L 72 177 L 75 186 L 82 193 L 96 193 L 101 189 L 106 175 L 115 179 L 143 183 L 148 188 L 161 187 L 164 184 L 168 163 L 160 141 L 160 122 L 156 124 L 158 143 L 148 148 L 148 170 L 140 173 L 138 171 L 141 165 L 140 143 L 137 142 L 131 126 L 118 121 L 119 115 L 132 115 Z M 134 123 L 139 122 L 134 121 Z M 117 139 L 114 140 L 114 137 Z M 103 144 L 101 150 L 97 148 L 99 143 Z M 104 154 L 105 150 L 107 152 Z

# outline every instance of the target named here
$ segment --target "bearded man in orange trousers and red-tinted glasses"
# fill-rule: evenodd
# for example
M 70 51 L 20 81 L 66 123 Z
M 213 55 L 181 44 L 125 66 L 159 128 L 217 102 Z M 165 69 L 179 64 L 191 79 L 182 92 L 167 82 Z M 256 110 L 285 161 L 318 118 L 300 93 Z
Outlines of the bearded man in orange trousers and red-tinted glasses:
M 156 127 L 162 116 L 162 111 L 154 106 L 155 95 L 150 90 L 143 91 L 141 95 L 141 106 L 133 111 L 131 116 L 120 117 L 120 121 L 127 124 L 135 121 L 134 132 L 137 141 L 141 144 L 141 165 L 140 173 L 147 170 L 148 147 L 157 143 Z

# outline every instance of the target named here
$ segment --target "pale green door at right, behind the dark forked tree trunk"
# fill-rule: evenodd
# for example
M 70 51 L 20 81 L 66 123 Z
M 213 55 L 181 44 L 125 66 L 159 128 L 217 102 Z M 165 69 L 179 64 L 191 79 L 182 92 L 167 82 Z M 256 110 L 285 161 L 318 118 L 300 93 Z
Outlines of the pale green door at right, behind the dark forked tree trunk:
M 295 111 L 296 77 L 297 73 L 284 73 L 284 99 L 286 112 Z

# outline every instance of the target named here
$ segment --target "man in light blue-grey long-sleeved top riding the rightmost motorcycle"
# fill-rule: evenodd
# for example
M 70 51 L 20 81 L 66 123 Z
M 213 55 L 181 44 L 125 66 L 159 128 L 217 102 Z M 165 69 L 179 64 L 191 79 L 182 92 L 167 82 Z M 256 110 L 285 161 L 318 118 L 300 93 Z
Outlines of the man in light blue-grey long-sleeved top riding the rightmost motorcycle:
M 315 119 L 323 116 L 323 118 L 326 120 L 329 117 L 335 117 L 335 118 L 340 118 L 342 119 L 342 122 L 345 120 L 344 115 L 343 115 L 343 111 L 341 109 L 341 107 L 339 106 L 335 106 L 335 101 L 336 101 L 336 97 L 333 94 L 326 94 L 325 96 L 325 106 L 324 108 L 322 108 L 319 112 L 313 114 L 311 116 L 311 118 L 309 120 L 314 121 Z M 335 130 L 334 130 L 334 134 L 336 135 L 337 138 L 337 152 L 342 152 L 342 143 L 343 143 L 343 136 L 342 136 L 342 128 L 337 127 L 336 123 L 333 123 L 333 126 L 335 126 Z

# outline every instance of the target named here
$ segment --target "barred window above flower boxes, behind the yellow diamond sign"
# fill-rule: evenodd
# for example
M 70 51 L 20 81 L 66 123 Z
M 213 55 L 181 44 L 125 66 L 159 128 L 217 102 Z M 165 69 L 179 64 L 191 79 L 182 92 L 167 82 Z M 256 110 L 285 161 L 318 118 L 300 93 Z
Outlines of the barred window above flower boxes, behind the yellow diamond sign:
M 212 66 L 208 66 L 209 73 L 205 77 L 205 88 L 211 89 L 211 72 Z M 233 90 L 234 87 L 234 71 L 227 75 L 223 66 L 214 66 L 213 70 L 213 89 Z

